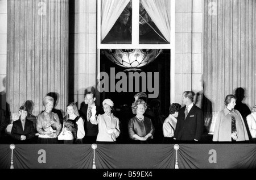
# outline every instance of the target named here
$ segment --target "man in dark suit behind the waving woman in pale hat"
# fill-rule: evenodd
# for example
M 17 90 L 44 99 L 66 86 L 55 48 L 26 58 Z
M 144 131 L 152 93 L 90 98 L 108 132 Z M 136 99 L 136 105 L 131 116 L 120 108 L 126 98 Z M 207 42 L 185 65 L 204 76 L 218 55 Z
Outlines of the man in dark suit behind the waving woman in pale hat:
M 92 108 L 96 108 L 96 116 L 101 113 L 101 107 L 96 106 L 95 101 L 96 97 L 94 93 L 88 92 L 84 97 L 84 101 L 81 104 L 79 114 L 84 118 L 84 129 L 85 136 L 82 139 L 82 143 L 84 144 L 94 144 L 96 143 L 97 135 L 98 135 L 98 124 L 94 125 L 90 122 L 90 117 L 92 116 Z

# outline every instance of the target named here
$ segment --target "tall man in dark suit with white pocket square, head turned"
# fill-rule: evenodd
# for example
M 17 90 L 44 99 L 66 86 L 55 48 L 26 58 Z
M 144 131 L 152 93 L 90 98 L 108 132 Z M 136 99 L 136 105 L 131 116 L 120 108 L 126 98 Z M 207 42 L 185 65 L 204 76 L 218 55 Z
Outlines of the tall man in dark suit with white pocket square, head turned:
M 185 91 L 182 95 L 182 103 L 185 104 L 179 110 L 177 116 L 174 139 L 178 141 L 199 141 L 204 129 L 203 111 L 193 104 L 195 93 Z

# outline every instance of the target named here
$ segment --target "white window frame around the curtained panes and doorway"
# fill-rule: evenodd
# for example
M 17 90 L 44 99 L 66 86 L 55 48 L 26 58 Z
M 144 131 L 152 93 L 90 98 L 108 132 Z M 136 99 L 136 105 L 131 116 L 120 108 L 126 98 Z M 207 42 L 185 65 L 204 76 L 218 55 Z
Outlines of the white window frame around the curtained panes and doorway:
M 170 49 L 170 101 L 175 102 L 175 1 L 171 1 L 169 44 L 139 44 L 139 0 L 131 0 L 133 8 L 131 44 L 101 44 L 101 0 L 97 0 L 97 82 L 100 81 L 100 49 Z

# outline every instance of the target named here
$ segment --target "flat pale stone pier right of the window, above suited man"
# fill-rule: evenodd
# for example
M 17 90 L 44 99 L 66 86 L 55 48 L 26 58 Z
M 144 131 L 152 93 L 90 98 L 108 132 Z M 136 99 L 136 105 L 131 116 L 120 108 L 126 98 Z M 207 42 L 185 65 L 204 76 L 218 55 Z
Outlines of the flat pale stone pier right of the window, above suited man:
M 192 1 L 175 5 L 175 102 L 181 104 L 183 92 L 192 89 Z

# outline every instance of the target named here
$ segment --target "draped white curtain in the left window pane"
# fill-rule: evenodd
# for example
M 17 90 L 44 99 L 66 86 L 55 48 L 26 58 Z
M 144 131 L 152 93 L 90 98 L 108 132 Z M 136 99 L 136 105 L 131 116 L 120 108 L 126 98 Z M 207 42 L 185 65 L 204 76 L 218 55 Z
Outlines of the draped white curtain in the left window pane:
M 101 1 L 101 41 L 108 35 L 130 0 Z

